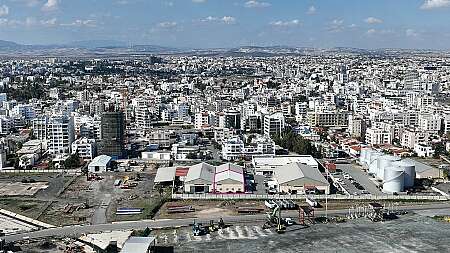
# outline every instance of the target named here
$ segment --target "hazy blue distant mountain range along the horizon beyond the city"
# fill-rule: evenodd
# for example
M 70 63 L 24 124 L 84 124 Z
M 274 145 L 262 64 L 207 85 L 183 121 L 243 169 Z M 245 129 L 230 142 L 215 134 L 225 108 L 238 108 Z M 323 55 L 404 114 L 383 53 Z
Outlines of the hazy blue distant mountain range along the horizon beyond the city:
M 127 45 L 125 42 L 115 40 L 86 40 L 67 44 L 54 45 L 23 45 L 12 41 L 0 40 L 0 55 L 127 55 L 127 54 L 187 54 L 187 55 L 222 55 L 222 56 L 255 56 L 265 57 L 274 55 L 301 55 L 323 53 L 353 53 L 353 54 L 379 54 L 400 52 L 431 52 L 433 50 L 403 50 L 403 49 L 359 49 L 350 47 L 334 47 L 319 49 L 311 47 L 290 46 L 242 46 L 237 48 L 189 49 L 173 48 L 157 45 Z

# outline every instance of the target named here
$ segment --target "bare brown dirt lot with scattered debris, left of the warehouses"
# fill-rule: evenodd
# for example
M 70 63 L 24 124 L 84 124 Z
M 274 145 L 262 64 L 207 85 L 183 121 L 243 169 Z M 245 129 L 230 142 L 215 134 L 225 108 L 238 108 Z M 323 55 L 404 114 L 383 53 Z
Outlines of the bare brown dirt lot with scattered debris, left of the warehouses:
M 154 173 L 139 172 L 139 179 L 137 175 L 135 172 L 110 172 L 103 174 L 102 180 L 88 181 L 86 176 L 72 178 L 59 174 L 2 174 L 0 184 L 32 180 L 47 183 L 48 187 L 32 196 L 1 196 L 0 208 L 39 218 L 53 225 L 99 224 L 148 218 L 159 199 L 158 195 L 152 195 Z M 125 176 L 136 182 L 137 186 L 131 189 L 114 186 L 116 179 L 123 181 Z M 67 188 L 62 191 L 65 185 Z M 144 210 L 141 215 L 116 217 L 119 207 L 140 207 Z

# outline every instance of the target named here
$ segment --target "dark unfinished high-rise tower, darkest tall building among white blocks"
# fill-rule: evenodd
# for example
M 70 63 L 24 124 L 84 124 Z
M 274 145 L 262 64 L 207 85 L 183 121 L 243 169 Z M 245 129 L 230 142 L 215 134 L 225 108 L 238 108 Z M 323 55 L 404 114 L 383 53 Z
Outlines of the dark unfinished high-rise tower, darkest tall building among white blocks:
M 108 155 L 113 159 L 120 159 L 124 156 L 124 128 L 122 112 L 105 112 L 102 114 L 99 155 Z

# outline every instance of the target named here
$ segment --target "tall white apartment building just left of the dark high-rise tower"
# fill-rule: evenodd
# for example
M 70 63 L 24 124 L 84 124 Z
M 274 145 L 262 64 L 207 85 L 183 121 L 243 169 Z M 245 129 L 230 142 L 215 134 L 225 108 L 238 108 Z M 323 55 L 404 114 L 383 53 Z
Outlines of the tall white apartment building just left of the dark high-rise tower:
M 47 141 L 50 154 L 69 154 L 75 138 L 73 125 L 73 117 L 44 116 L 33 120 L 33 134 Z

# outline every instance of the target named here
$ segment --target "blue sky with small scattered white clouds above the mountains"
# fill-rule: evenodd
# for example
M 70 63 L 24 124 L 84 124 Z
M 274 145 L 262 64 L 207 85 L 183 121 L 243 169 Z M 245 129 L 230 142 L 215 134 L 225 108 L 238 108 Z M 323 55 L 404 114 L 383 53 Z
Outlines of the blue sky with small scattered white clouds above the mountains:
M 0 40 L 450 49 L 450 0 L 0 0 Z

